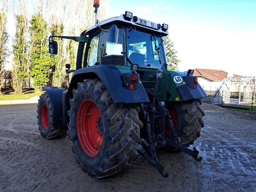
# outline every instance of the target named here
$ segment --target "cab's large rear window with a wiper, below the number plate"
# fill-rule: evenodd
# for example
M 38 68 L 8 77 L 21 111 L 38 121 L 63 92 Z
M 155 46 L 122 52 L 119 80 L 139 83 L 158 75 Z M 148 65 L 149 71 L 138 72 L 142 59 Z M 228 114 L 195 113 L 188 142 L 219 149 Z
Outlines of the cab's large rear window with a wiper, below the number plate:
M 129 29 L 126 29 L 127 56 L 132 64 L 142 68 L 162 68 L 165 60 L 161 37 Z

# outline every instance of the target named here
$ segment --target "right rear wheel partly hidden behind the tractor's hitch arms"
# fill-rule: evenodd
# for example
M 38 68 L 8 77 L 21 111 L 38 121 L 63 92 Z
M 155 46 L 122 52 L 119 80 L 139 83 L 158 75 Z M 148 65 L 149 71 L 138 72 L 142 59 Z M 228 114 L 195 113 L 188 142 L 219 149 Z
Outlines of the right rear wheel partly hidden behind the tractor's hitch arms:
M 170 102 L 167 108 L 172 116 L 177 134 L 180 136 L 181 144 L 188 147 L 196 138 L 200 137 L 201 128 L 204 127 L 202 117 L 204 111 L 200 107 L 199 100 L 187 100 Z M 165 134 L 172 134 L 170 126 L 165 127 Z M 170 149 L 174 149 L 168 146 Z

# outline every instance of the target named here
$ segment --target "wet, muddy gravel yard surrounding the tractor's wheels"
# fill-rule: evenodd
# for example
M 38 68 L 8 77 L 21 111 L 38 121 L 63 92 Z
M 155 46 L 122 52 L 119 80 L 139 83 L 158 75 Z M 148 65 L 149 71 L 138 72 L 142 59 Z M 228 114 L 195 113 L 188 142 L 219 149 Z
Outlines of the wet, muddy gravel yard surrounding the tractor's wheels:
M 203 160 L 158 151 L 166 179 L 143 158 L 114 177 L 91 179 L 76 164 L 71 141 L 43 139 L 36 122 L 36 104 L 0 106 L 0 191 L 256 190 L 256 116 L 250 113 L 206 110 L 194 144 Z

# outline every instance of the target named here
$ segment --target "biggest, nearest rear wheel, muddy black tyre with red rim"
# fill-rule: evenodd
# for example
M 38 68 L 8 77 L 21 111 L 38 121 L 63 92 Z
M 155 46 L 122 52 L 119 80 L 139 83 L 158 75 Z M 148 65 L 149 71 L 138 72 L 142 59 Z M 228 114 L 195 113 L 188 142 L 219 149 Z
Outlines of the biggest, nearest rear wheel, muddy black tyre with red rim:
M 131 164 L 142 141 L 139 108 L 113 103 L 100 79 L 78 83 L 69 101 L 72 151 L 82 170 L 90 177 L 103 178 Z

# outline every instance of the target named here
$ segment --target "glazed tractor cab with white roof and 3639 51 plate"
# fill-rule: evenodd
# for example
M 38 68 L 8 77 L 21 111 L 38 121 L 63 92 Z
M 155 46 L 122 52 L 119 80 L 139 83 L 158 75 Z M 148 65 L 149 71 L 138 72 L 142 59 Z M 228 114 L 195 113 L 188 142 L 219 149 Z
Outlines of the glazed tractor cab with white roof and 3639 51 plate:
M 140 19 L 131 12 L 99 22 L 85 32 L 83 67 L 138 64 L 139 68 L 166 70 L 162 37 L 168 35 L 167 29 L 166 24 Z

